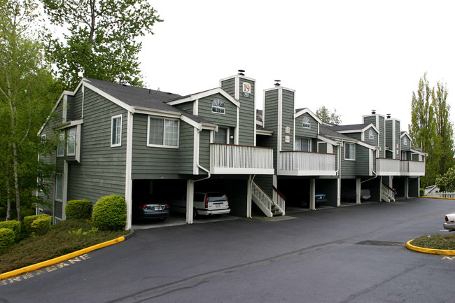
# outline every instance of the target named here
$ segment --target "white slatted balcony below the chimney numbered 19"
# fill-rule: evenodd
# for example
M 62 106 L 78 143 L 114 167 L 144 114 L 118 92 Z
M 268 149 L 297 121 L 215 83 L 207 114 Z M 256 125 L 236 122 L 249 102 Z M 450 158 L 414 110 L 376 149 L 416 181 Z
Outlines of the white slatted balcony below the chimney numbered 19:
M 273 149 L 210 144 L 211 174 L 274 174 Z

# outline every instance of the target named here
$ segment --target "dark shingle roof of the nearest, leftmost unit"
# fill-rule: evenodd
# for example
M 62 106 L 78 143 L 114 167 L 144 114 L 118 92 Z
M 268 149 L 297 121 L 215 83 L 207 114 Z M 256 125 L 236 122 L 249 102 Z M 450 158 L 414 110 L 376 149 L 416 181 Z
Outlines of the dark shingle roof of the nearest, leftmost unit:
M 144 87 L 117 84 L 90 78 L 84 78 L 84 80 L 94 87 L 97 87 L 99 90 L 106 92 L 106 94 L 109 94 L 112 97 L 123 101 L 129 106 L 181 113 L 182 115 L 185 115 L 186 117 L 196 122 L 214 124 L 202 117 L 192 115 L 186 111 L 181 110 L 180 108 L 176 108 L 175 106 L 165 103 L 167 101 L 181 99 L 182 96 L 179 94 L 173 94 L 172 92 L 161 92 L 159 90 L 150 90 Z

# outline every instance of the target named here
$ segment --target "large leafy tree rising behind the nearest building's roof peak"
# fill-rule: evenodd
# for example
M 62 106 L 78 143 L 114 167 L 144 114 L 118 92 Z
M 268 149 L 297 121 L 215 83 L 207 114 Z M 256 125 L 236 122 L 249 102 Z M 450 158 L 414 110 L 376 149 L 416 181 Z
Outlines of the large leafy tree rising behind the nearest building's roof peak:
M 139 36 L 153 34 L 160 16 L 147 0 L 41 0 L 50 22 L 66 27 L 50 38 L 48 55 L 73 89 L 80 77 L 141 85 Z

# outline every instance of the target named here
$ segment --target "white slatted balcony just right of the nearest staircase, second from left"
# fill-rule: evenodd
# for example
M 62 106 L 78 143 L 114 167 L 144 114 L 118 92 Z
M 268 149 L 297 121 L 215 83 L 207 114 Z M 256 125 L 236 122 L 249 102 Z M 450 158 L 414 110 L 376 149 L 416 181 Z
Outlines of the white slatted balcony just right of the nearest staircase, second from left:
M 335 176 L 335 154 L 290 151 L 279 153 L 278 174 L 286 176 Z

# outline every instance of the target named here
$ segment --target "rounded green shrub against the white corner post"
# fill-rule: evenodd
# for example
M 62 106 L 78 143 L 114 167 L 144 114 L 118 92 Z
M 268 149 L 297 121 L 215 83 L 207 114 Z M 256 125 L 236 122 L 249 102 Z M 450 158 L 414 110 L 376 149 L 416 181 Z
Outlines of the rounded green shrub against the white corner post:
M 92 221 L 99 230 L 122 230 L 127 218 L 127 204 L 120 195 L 101 197 L 93 206 Z

